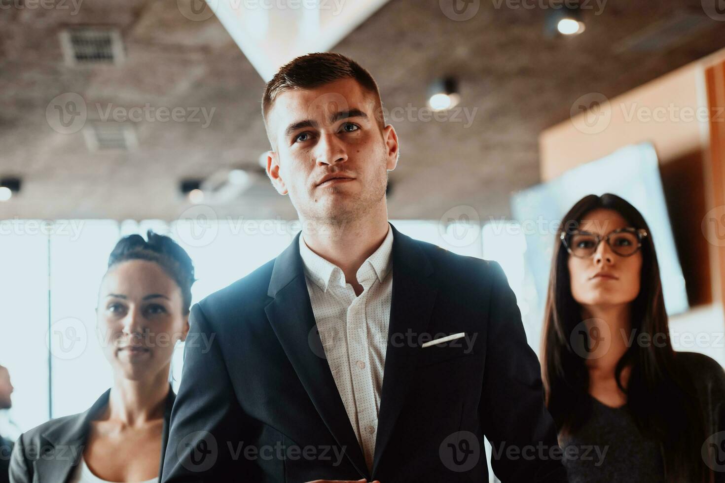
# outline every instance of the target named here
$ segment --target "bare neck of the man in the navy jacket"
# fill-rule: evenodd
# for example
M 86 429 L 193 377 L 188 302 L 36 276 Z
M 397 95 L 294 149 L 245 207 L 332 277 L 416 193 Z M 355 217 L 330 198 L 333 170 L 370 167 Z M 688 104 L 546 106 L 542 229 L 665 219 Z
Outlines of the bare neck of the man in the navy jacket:
M 374 217 L 343 224 L 303 220 L 304 243 L 323 259 L 339 266 L 347 283 L 357 287 L 357 270 L 380 247 L 389 230 L 386 206 Z

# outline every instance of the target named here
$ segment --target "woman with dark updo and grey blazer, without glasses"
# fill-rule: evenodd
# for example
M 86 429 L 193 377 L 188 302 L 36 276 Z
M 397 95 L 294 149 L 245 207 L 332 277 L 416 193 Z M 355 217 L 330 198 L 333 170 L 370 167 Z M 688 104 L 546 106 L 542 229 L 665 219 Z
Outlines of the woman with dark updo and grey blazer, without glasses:
M 188 333 L 193 283 L 191 259 L 171 238 L 149 230 L 148 241 L 117 243 L 96 308 L 113 385 L 86 412 L 22 434 L 11 483 L 159 481 L 175 399 L 171 358 Z

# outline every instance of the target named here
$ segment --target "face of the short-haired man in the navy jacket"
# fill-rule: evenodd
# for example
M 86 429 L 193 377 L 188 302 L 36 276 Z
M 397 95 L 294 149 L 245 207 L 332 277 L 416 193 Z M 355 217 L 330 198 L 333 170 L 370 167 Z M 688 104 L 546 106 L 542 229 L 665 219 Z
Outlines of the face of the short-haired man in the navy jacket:
M 353 79 L 278 96 L 267 117 L 274 150 L 267 173 L 301 219 L 342 224 L 384 205 L 398 143 L 380 115 L 373 94 Z

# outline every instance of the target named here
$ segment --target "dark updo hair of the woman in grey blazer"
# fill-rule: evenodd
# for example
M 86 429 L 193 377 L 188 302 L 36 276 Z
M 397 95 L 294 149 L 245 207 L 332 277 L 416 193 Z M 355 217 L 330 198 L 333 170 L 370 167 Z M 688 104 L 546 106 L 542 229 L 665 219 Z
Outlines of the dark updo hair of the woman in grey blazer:
M 128 235 L 118 240 L 108 257 L 108 268 L 128 260 L 148 260 L 159 264 L 181 288 L 184 314 L 188 314 L 191 308 L 191 285 L 196 282 L 191 258 L 178 243 L 165 235 L 149 230 L 146 238 L 149 240 L 144 240 L 141 235 Z

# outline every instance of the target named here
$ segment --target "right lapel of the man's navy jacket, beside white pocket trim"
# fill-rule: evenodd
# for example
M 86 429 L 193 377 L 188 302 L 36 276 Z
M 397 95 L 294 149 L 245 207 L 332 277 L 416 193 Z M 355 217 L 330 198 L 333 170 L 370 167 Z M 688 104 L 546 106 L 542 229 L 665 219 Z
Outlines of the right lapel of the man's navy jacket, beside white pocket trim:
M 425 333 L 438 293 L 430 279 L 433 267 L 418 242 L 400 233 L 392 224 L 390 226 L 393 230 L 393 294 L 373 457 L 373 479 L 405 402 L 415 360 L 421 350 L 413 345 L 392 345 L 392 335 L 408 331 L 413 335 Z

